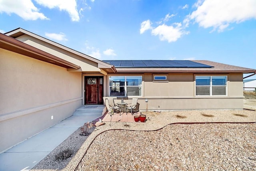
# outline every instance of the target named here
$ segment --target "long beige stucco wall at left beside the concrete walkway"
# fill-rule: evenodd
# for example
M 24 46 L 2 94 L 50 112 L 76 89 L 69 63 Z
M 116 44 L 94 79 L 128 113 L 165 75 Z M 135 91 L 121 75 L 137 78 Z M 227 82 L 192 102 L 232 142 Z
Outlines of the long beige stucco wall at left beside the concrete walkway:
M 82 73 L 3 49 L 0 54 L 1 152 L 71 116 L 82 105 Z

